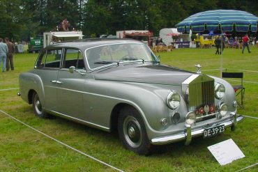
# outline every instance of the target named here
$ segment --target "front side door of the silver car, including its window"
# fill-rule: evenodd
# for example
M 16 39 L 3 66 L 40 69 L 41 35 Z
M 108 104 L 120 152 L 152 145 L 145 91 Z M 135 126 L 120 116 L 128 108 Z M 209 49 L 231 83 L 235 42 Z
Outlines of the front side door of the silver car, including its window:
M 69 68 L 73 68 L 69 71 Z M 86 78 L 84 60 L 79 49 L 66 48 L 57 79 L 57 111 L 65 116 L 82 119 L 83 92 Z

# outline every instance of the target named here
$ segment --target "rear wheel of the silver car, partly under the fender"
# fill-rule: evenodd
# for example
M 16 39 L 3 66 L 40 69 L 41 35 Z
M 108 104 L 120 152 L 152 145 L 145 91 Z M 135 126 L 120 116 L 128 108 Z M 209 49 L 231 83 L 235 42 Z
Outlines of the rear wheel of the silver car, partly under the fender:
M 47 118 L 47 113 L 44 111 L 40 97 L 38 97 L 38 93 L 34 92 L 32 94 L 32 106 L 34 114 L 40 118 Z

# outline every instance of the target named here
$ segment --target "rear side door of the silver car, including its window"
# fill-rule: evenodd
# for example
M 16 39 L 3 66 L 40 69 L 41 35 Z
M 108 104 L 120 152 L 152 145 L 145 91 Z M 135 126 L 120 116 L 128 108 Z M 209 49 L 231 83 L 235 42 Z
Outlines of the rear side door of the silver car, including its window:
M 45 49 L 36 62 L 36 74 L 43 84 L 44 108 L 56 111 L 56 79 L 61 65 L 62 48 Z

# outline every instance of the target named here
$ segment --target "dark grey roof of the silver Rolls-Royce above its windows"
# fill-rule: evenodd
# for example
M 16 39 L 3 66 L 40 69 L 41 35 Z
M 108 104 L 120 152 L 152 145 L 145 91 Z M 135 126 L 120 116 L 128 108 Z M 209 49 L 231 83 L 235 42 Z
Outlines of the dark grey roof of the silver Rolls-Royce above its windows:
M 123 43 L 144 43 L 139 40 L 125 39 L 125 38 L 92 38 L 92 39 L 81 39 L 81 40 L 71 40 L 67 42 L 59 42 L 53 45 L 49 45 L 46 48 L 54 47 L 75 47 L 78 49 L 88 49 L 90 47 L 96 47 L 100 45 L 109 44 L 123 44 Z

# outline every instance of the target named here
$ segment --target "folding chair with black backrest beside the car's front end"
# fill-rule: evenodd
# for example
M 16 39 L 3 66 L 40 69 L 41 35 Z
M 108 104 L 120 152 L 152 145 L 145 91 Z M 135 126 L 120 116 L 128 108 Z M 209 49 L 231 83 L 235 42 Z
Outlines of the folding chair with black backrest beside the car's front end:
M 241 85 L 233 86 L 237 95 L 241 96 L 241 100 L 237 101 L 239 107 L 243 109 L 243 98 L 245 96 L 245 87 L 243 86 L 243 72 L 222 72 L 222 78 L 239 78 L 241 79 Z

